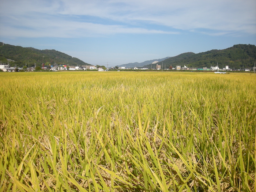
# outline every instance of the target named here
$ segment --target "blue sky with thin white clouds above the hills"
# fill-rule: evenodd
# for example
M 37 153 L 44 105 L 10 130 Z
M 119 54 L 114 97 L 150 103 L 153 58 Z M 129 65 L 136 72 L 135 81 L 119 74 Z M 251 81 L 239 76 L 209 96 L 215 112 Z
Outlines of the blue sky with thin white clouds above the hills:
M 110 66 L 256 45 L 256 1 L 0 0 L 0 41 Z

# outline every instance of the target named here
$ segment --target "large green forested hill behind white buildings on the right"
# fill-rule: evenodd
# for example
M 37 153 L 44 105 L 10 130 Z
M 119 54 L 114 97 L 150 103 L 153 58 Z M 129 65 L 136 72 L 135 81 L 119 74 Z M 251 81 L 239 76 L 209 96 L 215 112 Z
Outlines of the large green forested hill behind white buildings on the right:
M 182 53 L 175 57 L 170 57 L 163 62 L 166 68 L 170 66 L 176 67 L 181 65 L 183 67 L 207 67 L 216 66 L 217 63 L 220 68 L 229 65 L 231 69 L 252 68 L 256 61 L 256 46 L 255 45 L 234 45 L 233 47 L 223 50 L 210 50 L 202 53 Z M 161 62 L 161 64 L 162 64 Z M 151 67 L 150 65 L 146 65 Z

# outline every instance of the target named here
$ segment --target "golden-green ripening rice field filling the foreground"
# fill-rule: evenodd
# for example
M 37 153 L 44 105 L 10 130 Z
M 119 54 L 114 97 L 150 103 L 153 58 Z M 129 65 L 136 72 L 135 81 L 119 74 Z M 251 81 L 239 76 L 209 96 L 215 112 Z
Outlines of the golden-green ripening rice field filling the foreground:
M 0 73 L 0 192 L 256 189 L 256 75 Z

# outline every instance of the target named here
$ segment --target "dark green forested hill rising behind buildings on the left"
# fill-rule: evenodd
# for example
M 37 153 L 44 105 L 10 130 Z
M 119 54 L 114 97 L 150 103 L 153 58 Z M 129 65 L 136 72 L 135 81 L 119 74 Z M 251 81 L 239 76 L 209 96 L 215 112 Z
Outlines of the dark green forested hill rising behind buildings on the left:
M 56 50 L 23 48 L 21 46 L 3 44 L 2 42 L 0 42 L 0 60 L 1 63 L 7 64 L 9 62 L 10 66 L 16 65 L 17 67 L 22 67 L 26 64 L 32 67 L 35 63 L 37 66 L 42 66 L 42 63 L 51 65 L 57 63 L 58 65 L 69 66 L 88 65 L 78 58 Z

